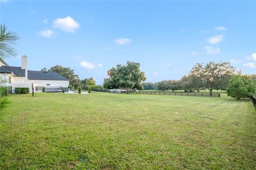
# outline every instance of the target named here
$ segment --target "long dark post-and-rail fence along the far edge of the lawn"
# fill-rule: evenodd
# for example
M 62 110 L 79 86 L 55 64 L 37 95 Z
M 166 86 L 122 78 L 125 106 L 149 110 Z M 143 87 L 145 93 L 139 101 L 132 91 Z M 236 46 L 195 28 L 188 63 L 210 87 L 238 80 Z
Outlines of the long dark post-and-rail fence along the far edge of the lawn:
M 120 90 L 103 90 L 93 89 L 92 91 L 109 92 L 117 94 L 126 94 L 127 91 Z M 130 94 L 145 94 L 145 95 L 169 95 L 169 96 L 203 96 L 203 97 L 220 97 L 220 94 L 200 93 L 200 92 L 165 92 L 165 91 L 129 91 Z

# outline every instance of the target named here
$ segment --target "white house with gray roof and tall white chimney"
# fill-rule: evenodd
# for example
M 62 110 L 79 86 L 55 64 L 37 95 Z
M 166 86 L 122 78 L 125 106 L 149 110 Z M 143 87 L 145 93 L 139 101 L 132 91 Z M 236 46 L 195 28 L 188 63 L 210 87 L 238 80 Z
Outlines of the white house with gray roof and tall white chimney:
M 28 70 L 28 57 L 21 57 L 21 67 L 9 66 L 0 58 L 0 78 L 6 87 L 29 87 L 32 83 L 36 91 L 41 91 L 42 87 L 46 89 L 67 88 L 69 80 L 62 75 L 48 71 Z

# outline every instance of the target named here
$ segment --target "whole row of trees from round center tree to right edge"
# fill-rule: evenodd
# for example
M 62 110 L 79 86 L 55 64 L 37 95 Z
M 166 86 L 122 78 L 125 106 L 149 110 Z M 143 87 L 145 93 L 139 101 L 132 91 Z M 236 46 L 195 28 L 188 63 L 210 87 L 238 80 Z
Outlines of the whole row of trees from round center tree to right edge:
M 118 64 L 108 71 L 108 77 L 104 80 L 106 89 L 138 89 L 138 90 L 184 90 L 185 92 L 208 89 L 210 95 L 213 90 L 228 90 L 228 95 L 237 99 L 253 95 L 256 91 L 256 75 L 242 75 L 241 71 L 235 74 L 235 67 L 229 62 L 209 62 L 205 65 L 197 63 L 180 80 L 163 80 L 160 82 L 143 82 L 145 73 L 140 70 L 140 63 L 127 62 Z M 239 79 L 239 80 L 237 80 Z M 243 86 L 242 88 L 234 86 Z M 236 95 L 234 95 L 234 89 Z M 239 91 L 240 90 L 240 91 Z M 242 91 L 241 91 L 242 90 Z M 243 94 L 243 95 L 241 95 Z

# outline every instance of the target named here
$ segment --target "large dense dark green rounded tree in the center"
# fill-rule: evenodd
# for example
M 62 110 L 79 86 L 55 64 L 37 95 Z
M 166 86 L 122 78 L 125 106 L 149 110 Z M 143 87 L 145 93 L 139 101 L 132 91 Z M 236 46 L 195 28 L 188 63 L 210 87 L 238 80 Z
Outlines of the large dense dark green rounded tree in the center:
M 146 80 L 145 73 L 140 71 L 140 63 L 127 62 L 118 64 L 108 71 L 109 78 L 104 80 L 106 89 L 142 89 L 142 81 Z

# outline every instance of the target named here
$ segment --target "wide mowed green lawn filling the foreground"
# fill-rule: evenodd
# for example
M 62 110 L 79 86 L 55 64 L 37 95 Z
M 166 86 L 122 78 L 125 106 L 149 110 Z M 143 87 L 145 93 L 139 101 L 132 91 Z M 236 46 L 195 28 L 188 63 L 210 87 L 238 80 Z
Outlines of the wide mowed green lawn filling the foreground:
M 250 100 L 103 92 L 9 99 L 0 169 L 256 167 Z

